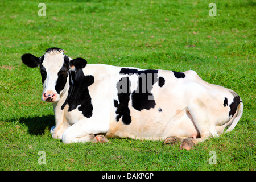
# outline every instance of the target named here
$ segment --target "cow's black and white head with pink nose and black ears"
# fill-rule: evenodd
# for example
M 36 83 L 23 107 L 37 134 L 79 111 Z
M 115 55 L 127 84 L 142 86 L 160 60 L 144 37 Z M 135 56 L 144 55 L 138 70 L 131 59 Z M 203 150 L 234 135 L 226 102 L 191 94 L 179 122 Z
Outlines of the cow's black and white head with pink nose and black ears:
M 22 62 L 28 67 L 40 67 L 43 82 L 42 100 L 57 102 L 67 84 L 69 69 L 82 69 L 87 61 L 82 58 L 71 59 L 64 55 L 63 49 L 48 48 L 41 57 L 30 53 L 22 55 Z

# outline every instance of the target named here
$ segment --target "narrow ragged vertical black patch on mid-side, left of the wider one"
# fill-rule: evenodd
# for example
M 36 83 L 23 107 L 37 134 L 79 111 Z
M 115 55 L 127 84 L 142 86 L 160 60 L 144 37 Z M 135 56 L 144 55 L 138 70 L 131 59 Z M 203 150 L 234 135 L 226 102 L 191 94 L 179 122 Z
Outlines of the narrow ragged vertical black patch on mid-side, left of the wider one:
M 114 106 L 117 108 L 115 113 L 117 114 L 116 121 L 118 122 L 119 119 L 122 117 L 122 122 L 125 125 L 129 125 L 131 123 L 131 116 L 130 116 L 130 109 L 128 107 L 129 100 L 130 100 L 130 90 L 131 81 L 128 77 L 123 77 L 117 83 L 117 90 L 118 90 L 118 101 L 114 100 Z M 121 91 L 122 92 L 119 92 Z

